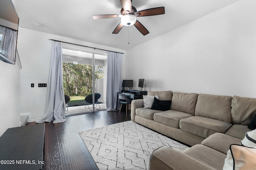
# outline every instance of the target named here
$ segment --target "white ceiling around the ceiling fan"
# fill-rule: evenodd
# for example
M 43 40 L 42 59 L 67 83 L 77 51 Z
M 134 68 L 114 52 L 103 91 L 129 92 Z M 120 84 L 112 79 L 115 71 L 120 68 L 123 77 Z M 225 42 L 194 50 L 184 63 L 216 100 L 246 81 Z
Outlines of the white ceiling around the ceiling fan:
M 150 32 L 142 35 L 134 26 L 112 34 L 120 18 L 93 20 L 93 15 L 120 14 L 120 0 L 12 0 L 20 27 L 127 50 L 154 37 L 201 18 L 238 0 L 133 0 L 137 11 L 165 7 L 165 14 L 138 17 Z M 34 24 L 40 23 L 42 27 Z

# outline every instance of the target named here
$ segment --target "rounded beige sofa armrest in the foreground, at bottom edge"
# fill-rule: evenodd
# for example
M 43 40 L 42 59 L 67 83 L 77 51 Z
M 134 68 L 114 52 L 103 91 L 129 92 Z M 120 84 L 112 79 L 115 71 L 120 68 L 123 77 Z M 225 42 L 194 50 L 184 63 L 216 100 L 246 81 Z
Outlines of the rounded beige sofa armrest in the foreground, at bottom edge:
M 150 154 L 149 170 L 214 170 L 212 167 L 169 147 L 160 147 Z

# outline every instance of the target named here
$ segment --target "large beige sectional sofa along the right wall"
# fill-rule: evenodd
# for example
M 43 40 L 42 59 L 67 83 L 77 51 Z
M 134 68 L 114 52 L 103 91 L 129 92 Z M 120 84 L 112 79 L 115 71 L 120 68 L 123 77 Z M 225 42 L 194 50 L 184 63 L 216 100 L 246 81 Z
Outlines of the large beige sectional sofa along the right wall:
M 184 152 L 156 149 L 150 156 L 151 170 L 222 169 L 229 146 L 239 144 L 251 131 L 247 127 L 256 112 L 254 98 L 172 91 L 150 91 L 148 95 L 172 100 L 170 109 L 143 108 L 143 100 L 133 100 L 132 121 L 193 146 Z

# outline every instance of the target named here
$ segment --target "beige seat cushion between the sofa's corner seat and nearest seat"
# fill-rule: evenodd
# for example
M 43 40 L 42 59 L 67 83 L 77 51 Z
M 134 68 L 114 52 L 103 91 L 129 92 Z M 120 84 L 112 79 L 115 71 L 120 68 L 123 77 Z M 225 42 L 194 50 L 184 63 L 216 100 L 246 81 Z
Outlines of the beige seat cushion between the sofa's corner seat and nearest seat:
M 223 133 L 214 133 L 202 141 L 202 145 L 218 150 L 224 154 L 228 153 L 230 145 L 240 145 L 240 143 L 241 139 L 231 137 Z

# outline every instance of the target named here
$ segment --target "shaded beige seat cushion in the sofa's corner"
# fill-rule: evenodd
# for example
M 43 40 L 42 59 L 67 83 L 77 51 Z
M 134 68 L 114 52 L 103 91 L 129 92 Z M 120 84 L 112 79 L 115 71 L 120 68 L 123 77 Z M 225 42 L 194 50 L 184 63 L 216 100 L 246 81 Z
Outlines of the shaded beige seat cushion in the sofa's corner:
M 225 134 L 238 139 L 244 139 L 244 136 L 248 131 L 252 131 L 252 130 L 248 129 L 247 125 L 235 124 L 235 125 L 232 125 Z

